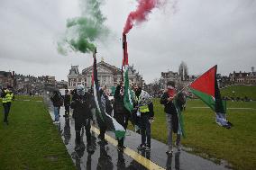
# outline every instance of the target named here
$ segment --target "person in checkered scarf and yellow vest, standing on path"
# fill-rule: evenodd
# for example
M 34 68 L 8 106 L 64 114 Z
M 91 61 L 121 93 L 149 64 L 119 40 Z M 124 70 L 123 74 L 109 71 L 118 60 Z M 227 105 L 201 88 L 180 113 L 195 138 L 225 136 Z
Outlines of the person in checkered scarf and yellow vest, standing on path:
M 153 103 L 151 96 L 147 92 L 143 91 L 138 85 L 133 86 L 134 106 L 137 109 L 137 120 L 142 135 L 142 144 L 138 146 L 138 149 L 145 149 L 145 151 L 151 150 L 151 122 L 154 120 Z

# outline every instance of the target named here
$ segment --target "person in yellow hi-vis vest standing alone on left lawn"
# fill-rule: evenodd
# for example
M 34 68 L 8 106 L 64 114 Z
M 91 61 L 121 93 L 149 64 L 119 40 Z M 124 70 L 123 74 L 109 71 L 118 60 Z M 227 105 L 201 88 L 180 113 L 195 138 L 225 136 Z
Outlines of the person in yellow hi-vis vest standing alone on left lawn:
M 14 93 L 12 91 L 12 86 L 8 85 L 7 89 L 4 88 L 2 91 L 1 97 L 2 97 L 2 103 L 4 106 L 4 113 L 5 113 L 4 123 L 8 125 L 9 124 L 8 115 L 11 109 L 12 102 L 14 100 Z

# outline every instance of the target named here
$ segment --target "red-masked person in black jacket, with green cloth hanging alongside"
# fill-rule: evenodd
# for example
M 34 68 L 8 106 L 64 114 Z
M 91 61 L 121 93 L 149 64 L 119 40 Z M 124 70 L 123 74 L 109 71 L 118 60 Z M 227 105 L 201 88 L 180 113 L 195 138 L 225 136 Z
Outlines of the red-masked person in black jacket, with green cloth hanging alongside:
M 167 89 L 165 90 L 164 94 L 162 94 L 160 98 L 160 103 L 164 105 L 164 112 L 166 112 L 166 121 L 167 121 L 167 129 L 168 129 L 168 146 L 169 149 L 166 152 L 168 155 L 172 155 L 173 149 L 172 149 L 172 132 L 177 134 L 176 139 L 176 146 L 178 151 L 181 150 L 180 148 L 180 139 L 181 134 L 183 134 L 183 130 L 181 130 L 181 125 L 183 123 L 180 123 L 181 120 L 181 114 L 180 110 L 182 110 L 182 100 L 177 100 L 176 98 L 184 99 L 181 97 L 176 97 L 177 95 L 181 96 L 181 93 L 176 92 L 175 89 L 175 82 L 170 81 L 167 83 Z M 183 101 L 183 103 L 185 103 Z

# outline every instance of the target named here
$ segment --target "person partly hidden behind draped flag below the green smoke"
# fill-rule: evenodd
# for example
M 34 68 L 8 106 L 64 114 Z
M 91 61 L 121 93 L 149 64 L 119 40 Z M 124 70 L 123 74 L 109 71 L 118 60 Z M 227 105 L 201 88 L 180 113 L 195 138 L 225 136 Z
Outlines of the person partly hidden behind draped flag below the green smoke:
M 103 87 L 99 90 L 99 94 L 101 97 L 101 104 L 103 107 L 102 111 L 105 111 L 108 115 L 111 116 L 113 108 L 112 108 L 111 102 L 108 99 L 108 96 L 106 95 L 105 91 L 106 91 L 106 85 L 103 85 Z M 99 134 L 98 138 L 101 139 L 101 141 L 107 143 L 105 140 L 105 130 L 107 129 L 105 122 L 100 123 L 99 128 L 100 128 L 100 134 Z

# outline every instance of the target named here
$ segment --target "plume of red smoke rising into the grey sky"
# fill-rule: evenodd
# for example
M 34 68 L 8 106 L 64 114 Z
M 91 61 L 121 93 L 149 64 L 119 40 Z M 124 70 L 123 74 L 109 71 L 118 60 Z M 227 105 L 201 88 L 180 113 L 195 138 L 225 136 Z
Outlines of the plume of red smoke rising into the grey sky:
M 138 0 L 138 6 L 136 11 L 133 11 L 129 14 L 125 26 L 123 28 L 123 34 L 128 33 L 132 28 L 134 22 L 143 22 L 146 20 L 148 13 L 151 13 L 151 10 L 156 7 L 160 0 Z

